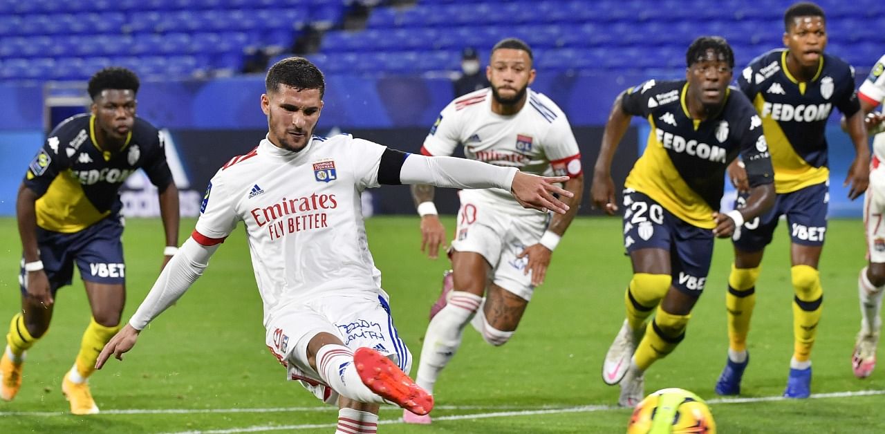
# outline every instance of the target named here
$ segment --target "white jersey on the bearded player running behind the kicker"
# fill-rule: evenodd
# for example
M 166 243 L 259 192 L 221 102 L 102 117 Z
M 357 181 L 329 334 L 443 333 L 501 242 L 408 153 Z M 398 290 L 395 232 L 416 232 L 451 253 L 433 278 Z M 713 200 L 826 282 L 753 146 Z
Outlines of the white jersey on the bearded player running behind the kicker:
M 456 98 L 436 118 L 421 153 L 451 156 L 458 145 L 463 145 L 464 155 L 472 160 L 516 167 L 535 175 L 580 175 L 581 151 L 566 114 L 550 98 L 531 88 L 527 96 L 525 106 L 512 116 L 492 111 L 491 88 Z M 537 213 L 519 206 L 504 190 L 491 188 L 476 193 L 520 213 Z

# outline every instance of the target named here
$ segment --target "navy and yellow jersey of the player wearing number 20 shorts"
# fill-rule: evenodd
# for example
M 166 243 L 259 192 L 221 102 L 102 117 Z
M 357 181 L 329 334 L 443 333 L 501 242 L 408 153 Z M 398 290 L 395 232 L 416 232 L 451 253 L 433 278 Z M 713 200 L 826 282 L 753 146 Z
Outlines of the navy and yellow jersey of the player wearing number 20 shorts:
M 691 118 L 686 80 L 650 80 L 627 89 L 621 108 L 649 119 L 648 145 L 624 186 L 647 194 L 676 217 L 698 227 L 716 227 L 725 171 L 739 154 L 750 186 L 773 181 L 762 121 L 746 96 L 727 90 L 719 113 Z

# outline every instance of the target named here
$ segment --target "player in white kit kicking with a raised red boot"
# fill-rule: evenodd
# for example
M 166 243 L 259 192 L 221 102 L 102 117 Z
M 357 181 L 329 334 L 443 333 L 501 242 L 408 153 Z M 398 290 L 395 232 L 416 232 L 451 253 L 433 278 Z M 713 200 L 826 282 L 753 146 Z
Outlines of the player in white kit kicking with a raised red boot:
M 196 229 L 166 266 L 96 368 L 135 346 L 139 333 L 187 291 L 242 222 L 264 302 L 266 344 L 320 400 L 337 402 L 336 432 L 375 432 L 378 407 L 417 414 L 433 397 L 407 376 L 411 354 L 390 317 L 362 219 L 360 195 L 382 184 L 510 190 L 520 203 L 565 213 L 555 183 L 512 168 L 405 154 L 349 134 L 312 135 L 323 107 L 322 72 L 302 57 L 267 73 L 265 140 L 222 167 L 206 191 Z

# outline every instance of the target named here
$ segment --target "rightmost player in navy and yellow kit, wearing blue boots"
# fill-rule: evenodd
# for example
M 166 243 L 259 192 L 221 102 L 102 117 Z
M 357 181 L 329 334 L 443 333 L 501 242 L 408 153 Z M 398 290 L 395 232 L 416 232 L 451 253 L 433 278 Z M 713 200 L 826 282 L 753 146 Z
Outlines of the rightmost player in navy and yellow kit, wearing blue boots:
M 781 216 L 790 232 L 793 291 L 794 351 L 783 393 L 807 398 L 811 393 L 811 351 L 820 320 L 823 291 L 818 262 L 827 233 L 829 169 L 824 130 L 833 109 L 848 118 L 848 132 L 857 156 L 848 171 L 850 199 L 864 193 L 870 151 L 864 113 L 854 91 L 854 70 L 838 57 L 824 54 L 827 26 L 816 4 L 799 3 L 784 13 L 787 49 L 757 57 L 738 78 L 741 90 L 756 106 L 765 126 L 774 165 L 774 208 L 748 221 L 735 233 L 735 263 L 728 276 L 728 358 L 716 385 L 721 395 L 741 391 L 743 369 L 749 362 L 747 334 L 755 304 L 756 280 L 765 247 Z M 746 164 L 746 162 L 744 162 Z M 729 168 L 735 187 L 743 190 L 743 171 Z M 738 197 L 739 208 L 745 194 Z

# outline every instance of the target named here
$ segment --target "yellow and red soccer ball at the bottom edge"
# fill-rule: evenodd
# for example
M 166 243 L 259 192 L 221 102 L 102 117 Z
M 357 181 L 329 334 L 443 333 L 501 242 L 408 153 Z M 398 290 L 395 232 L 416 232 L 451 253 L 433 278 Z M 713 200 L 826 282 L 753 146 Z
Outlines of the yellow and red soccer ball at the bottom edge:
M 716 434 L 716 423 L 704 400 L 679 388 L 651 393 L 636 406 L 627 434 Z

